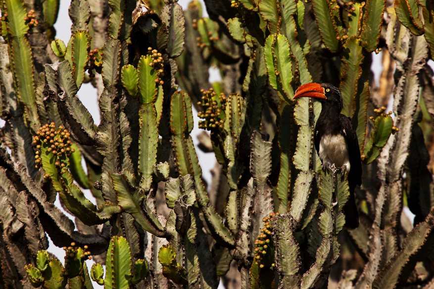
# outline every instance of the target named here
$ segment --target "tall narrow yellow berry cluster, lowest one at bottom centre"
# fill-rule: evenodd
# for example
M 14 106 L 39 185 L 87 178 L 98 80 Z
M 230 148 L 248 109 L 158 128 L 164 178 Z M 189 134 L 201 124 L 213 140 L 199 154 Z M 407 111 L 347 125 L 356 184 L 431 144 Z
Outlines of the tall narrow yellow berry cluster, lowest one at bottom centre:
M 265 265 L 267 265 L 267 263 L 271 262 L 270 270 L 275 269 L 275 264 L 273 262 L 274 245 L 273 245 L 273 241 L 271 240 L 271 231 L 273 228 L 270 225 L 270 219 L 278 214 L 279 212 L 270 213 L 268 217 L 262 219 L 262 222 L 264 222 L 264 228 L 261 229 L 262 234 L 258 235 L 258 239 L 255 240 L 256 248 L 255 248 L 255 256 L 254 256 L 255 264 L 259 265 L 259 268 L 264 268 Z

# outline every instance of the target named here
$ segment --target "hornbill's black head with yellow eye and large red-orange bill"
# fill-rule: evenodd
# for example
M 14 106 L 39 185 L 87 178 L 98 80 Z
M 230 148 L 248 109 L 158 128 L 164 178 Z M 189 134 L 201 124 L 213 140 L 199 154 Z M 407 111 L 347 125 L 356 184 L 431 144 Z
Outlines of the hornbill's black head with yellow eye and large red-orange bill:
M 329 83 L 307 83 L 295 90 L 295 98 L 312 97 L 318 99 L 323 107 L 329 106 L 340 111 L 342 110 L 342 95 L 338 87 Z

